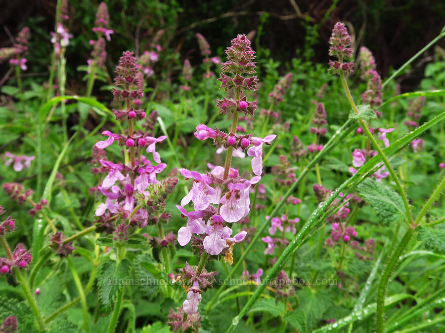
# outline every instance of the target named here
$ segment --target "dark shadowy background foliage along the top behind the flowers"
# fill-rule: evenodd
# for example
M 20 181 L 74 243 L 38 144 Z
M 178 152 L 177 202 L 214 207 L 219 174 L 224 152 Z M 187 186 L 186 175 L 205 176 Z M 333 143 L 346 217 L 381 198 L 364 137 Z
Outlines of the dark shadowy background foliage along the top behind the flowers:
M 67 49 L 68 77 L 75 76 L 77 66 L 89 57 L 88 41 L 100 1 L 69 1 L 70 32 L 74 35 Z M 162 30 L 160 43 L 170 56 L 163 66 L 174 68 L 178 60 L 189 58 L 199 64 L 201 56 L 194 37 L 200 32 L 211 43 L 214 54 L 222 55 L 223 47 L 238 33 L 257 30 L 255 49 L 270 49 L 270 56 L 285 66 L 295 56 L 312 62 L 326 63 L 327 42 L 335 22 L 343 21 L 356 40 L 356 47 L 366 45 L 374 54 L 378 70 L 386 76 L 391 66 L 399 67 L 445 25 L 445 2 L 440 0 L 109 0 L 106 1 L 111 26 L 116 31 L 108 43 L 109 65 L 113 66 L 123 50 L 139 52 Z M 49 32 L 54 30 L 56 1 L 0 1 L 0 47 L 11 44 L 8 32 L 15 36 L 20 28 L 32 29 L 30 68 L 35 75 L 45 75 L 52 45 Z M 439 45 L 445 46 L 442 41 Z M 136 51 L 137 53 L 137 51 Z M 430 55 L 433 50 L 430 51 Z M 175 55 L 175 56 L 172 56 Z M 34 56 L 33 56 L 34 55 Z M 425 58 L 426 57 L 426 58 Z M 415 86 L 423 74 L 411 71 L 404 77 L 402 90 Z M 0 67 L 3 72 L 4 64 Z M 30 73 L 30 72 L 29 72 Z M 80 74 L 79 74 L 80 75 Z M 74 80 L 73 80 L 74 85 Z M 70 86 L 70 82 L 68 82 Z M 76 86 L 70 86 L 76 90 Z

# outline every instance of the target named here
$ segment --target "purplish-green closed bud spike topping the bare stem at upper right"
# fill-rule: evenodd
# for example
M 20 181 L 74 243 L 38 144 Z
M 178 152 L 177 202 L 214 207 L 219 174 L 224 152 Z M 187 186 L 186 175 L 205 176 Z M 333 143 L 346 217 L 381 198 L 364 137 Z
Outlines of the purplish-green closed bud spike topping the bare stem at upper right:
M 332 30 L 332 36 L 329 38 L 329 44 L 331 45 L 329 55 L 336 57 L 338 60 L 329 60 L 328 71 L 333 74 L 354 72 L 354 63 L 345 61 L 345 58 L 351 58 L 353 55 L 351 41 L 348 29 L 343 23 L 337 22 Z

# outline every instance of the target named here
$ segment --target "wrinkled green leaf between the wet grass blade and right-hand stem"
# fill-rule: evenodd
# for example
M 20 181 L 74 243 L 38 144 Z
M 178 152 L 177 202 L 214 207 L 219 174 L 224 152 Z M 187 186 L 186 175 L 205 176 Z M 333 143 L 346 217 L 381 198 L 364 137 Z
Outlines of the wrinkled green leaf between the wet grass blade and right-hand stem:
M 358 194 L 371 205 L 386 225 L 398 222 L 404 217 L 405 209 L 401 196 L 391 187 L 375 180 L 365 179 L 357 189 Z

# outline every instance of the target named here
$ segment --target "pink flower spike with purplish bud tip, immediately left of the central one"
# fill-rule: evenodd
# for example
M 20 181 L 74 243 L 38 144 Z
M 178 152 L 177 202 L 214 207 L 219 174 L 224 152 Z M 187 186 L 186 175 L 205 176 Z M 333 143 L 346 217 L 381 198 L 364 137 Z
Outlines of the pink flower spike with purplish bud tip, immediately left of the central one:
M 117 119 L 128 120 L 128 133 L 115 134 L 110 131 L 102 132 L 108 138 L 98 141 L 93 149 L 93 161 L 98 167 L 92 172 L 104 174 L 101 185 L 93 188 L 106 199 L 100 203 L 95 211 L 98 217 L 99 230 L 114 232 L 114 239 L 125 241 L 134 227 L 142 228 L 147 223 L 166 222 L 170 214 L 165 212 L 165 199 L 171 193 L 178 180 L 171 178 L 159 182 L 156 175 L 162 172 L 166 164 L 161 163 L 160 154 L 156 151 L 156 144 L 166 137 L 151 137 L 143 131 L 134 129 L 134 120 L 145 117 L 143 110 L 135 110 L 134 105 L 142 97 L 142 77 L 138 70 L 136 58 L 132 52 L 124 52 L 116 66 L 116 87 L 113 89 L 115 100 L 124 101 L 124 110 L 114 110 Z M 105 151 L 115 141 L 130 151 L 130 161 L 126 164 L 114 163 L 108 160 Z M 138 150 L 146 149 L 151 153 L 153 164 L 142 153 L 136 156 Z M 116 184 L 117 183 L 117 184 Z M 159 242 L 162 243 L 163 239 Z M 168 239 L 168 243 L 175 239 Z

